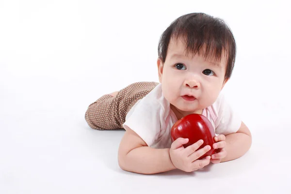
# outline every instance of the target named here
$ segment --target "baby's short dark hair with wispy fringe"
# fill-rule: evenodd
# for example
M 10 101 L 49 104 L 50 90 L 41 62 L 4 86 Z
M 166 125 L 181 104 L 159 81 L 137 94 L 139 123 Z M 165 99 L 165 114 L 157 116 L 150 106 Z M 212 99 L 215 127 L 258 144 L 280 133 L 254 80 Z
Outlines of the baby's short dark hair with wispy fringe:
M 182 15 L 162 33 L 158 55 L 164 63 L 171 38 L 184 38 L 186 55 L 191 52 L 220 63 L 223 51 L 226 54 L 225 81 L 230 78 L 236 57 L 234 36 L 223 19 L 204 13 Z M 205 46 L 205 47 L 204 47 Z M 200 51 L 205 48 L 205 52 Z

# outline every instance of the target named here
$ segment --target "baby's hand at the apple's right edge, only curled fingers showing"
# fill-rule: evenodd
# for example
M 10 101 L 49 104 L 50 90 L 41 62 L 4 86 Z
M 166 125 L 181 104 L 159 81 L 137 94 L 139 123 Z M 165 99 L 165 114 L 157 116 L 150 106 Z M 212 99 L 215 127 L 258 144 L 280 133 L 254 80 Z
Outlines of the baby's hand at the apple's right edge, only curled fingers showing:
M 226 136 L 223 134 L 217 135 L 214 137 L 214 143 L 212 147 L 218 150 L 218 153 L 212 154 L 210 158 L 210 162 L 213 164 L 218 164 L 221 162 L 221 159 L 226 157 Z

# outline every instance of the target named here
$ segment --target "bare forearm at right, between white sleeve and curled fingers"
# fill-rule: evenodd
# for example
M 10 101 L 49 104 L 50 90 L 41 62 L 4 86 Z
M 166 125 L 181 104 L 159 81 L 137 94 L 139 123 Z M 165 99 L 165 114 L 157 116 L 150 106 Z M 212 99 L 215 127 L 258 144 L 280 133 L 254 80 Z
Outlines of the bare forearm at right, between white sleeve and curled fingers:
M 221 160 L 221 162 L 226 162 L 241 157 L 250 149 L 251 144 L 252 137 L 247 134 L 235 133 L 226 135 L 225 149 L 227 155 Z

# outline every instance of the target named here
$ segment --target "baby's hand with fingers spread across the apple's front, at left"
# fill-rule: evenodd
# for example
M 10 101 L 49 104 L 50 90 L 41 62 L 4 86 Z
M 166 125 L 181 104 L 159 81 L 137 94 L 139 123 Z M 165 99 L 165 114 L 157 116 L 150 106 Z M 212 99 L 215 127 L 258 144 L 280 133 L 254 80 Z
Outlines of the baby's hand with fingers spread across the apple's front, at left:
M 211 147 L 207 145 L 204 148 L 197 150 L 203 144 L 203 140 L 201 139 L 191 146 L 184 148 L 183 144 L 188 143 L 188 141 L 189 139 L 181 137 L 176 139 L 171 145 L 170 158 L 176 168 L 185 172 L 192 172 L 199 168 L 203 168 L 210 163 L 210 156 L 207 156 L 202 160 L 197 159 L 208 152 Z

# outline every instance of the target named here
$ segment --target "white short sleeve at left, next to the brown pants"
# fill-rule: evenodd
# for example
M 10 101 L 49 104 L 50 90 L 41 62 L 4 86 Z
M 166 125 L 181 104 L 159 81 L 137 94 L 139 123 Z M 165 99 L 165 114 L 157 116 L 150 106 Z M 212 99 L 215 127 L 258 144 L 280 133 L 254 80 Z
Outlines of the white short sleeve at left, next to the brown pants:
M 158 139 L 161 131 L 162 106 L 158 103 L 148 103 L 141 99 L 126 116 L 123 123 L 125 130 L 131 129 L 151 147 Z

